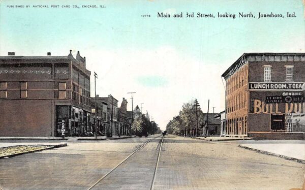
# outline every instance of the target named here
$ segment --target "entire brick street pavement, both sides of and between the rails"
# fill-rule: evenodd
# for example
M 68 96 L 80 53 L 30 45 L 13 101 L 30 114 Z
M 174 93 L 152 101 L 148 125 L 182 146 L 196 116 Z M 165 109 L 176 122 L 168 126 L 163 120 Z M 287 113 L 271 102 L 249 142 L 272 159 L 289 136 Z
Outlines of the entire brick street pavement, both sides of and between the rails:
M 63 148 L 3 159 L 0 185 L 5 189 L 86 189 L 147 140 L 72 142 Z M 97 189 L 149 189 L 157 152 L 157 142 L 148 143 Z M 168 135 L 155 189 L 299 188 L 304 168 L 304 164 L 243 149 L 235 143 Z

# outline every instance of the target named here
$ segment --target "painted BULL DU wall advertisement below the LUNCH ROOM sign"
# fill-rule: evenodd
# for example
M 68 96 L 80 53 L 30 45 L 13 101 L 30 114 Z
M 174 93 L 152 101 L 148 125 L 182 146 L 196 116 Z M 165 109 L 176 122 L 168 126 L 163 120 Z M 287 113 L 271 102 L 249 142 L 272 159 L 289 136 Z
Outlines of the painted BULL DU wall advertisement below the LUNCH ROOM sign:
M 270 114 L 270 131 L 305 132 L 304 91 L 251 91 L 250 113 Z

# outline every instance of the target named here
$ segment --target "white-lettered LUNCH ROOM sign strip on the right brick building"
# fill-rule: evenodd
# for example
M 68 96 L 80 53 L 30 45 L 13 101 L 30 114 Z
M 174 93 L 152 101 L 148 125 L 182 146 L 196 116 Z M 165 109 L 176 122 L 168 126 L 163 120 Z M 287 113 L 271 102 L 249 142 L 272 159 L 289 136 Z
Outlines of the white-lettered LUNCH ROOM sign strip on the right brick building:
M 249 82 L 249 90 L 302 90 L 303 82 Z

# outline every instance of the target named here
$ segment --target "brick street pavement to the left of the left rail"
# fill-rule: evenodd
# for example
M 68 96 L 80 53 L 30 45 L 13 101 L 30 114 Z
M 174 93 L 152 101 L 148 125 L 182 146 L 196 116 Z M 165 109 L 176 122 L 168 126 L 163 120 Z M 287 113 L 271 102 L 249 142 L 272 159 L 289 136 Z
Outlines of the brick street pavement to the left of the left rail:
M 147 138 L 85 141 L 0 160 L 4 189 L 86 189 Z

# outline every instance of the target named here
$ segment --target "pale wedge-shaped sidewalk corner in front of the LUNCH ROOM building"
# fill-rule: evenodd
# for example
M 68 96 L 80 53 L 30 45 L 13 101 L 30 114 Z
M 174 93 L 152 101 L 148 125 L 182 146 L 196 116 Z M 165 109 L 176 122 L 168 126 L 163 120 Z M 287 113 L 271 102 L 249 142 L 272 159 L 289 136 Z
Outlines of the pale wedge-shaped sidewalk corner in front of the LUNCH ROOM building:
M 241 148 L 247 148 L 260 153 L 284 157 L 287 160 L 294 160 L 305 164 L 305 144 L 303 141 L 287 144 L 279 143 L 251 143 L 239 144 Z

